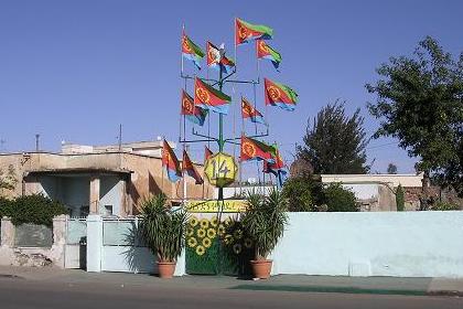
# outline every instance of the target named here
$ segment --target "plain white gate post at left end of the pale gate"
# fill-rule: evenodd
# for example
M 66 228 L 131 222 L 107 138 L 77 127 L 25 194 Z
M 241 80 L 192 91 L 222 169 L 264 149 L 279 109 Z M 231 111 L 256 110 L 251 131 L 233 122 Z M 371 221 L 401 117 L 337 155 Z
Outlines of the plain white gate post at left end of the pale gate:
M 103 219 L 99 214 L 87 216 L 87 271 L 101 271 Z

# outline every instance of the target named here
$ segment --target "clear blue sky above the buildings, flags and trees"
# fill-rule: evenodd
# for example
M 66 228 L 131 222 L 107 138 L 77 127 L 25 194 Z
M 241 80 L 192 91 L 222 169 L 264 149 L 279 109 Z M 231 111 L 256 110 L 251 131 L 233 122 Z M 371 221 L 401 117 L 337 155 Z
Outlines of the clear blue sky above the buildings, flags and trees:
M 119 124 L 123 141 L 176 140 L 182 23 L 197 44 L 225 43 L 234 56 L 233 22 L 240 17 L 274 29 L 269 44 L 283 56 L 281 73 L 261 62 L 260 76 L 299 93 L 294 113 L 266 110 L 257 87 L 257 104 L 270 121 L 268 141 L 280 142 L 290 159 L 308 119 L 336 98 L 347 102 L 348 113 L 362 108 L 373 134 L 377 120 L 365 106 L 374 97 L 364 85 L 377 78 L 375 68 L 391 55 L 411 54 L 426 35 L 457 55 L 462 15 L 463 1 L 0 0 L 0 151 L 33 150 L 36 132 L 52 151 L 62 140 L 115 143 Z M 238 78 L 257 76 L 254 45 L 238 47 L 237 63 Z M 195 72 L 190 63 L 185 70 Z M 249 86 L 227 86 L 225 93 L 254 99 Z M 227 135 L 234 127 L 239 132 L 240 120 L 232 113 L 226 127 Z M 192 153 L 198 159 L 202 146 L 192 146 Z M 392 139 L 373 140 L 373 171 L 386 171 L 388 162 L 413 171 L 414 160 Z

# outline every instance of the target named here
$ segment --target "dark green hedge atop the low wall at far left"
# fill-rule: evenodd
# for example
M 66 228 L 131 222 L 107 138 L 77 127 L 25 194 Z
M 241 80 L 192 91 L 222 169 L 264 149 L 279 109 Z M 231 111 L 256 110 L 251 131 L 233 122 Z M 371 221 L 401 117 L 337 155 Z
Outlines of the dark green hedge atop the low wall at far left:
M 43 194 L 19 196 L 12 201 L 0 199 L 0 217 L 10 217 L 14 225 L 33 223 L 51 227 L 54 216 L 67 213 L 63 204 Z

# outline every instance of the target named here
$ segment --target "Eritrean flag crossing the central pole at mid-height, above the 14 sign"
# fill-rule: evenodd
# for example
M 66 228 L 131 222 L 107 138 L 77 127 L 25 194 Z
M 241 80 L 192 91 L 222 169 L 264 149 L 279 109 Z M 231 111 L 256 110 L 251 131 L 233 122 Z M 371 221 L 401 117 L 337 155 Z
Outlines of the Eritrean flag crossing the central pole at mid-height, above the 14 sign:
M 228 114 L 232 98 L 196 77 L 194 82 L 194 104 L 201 108 L 218 114 Z

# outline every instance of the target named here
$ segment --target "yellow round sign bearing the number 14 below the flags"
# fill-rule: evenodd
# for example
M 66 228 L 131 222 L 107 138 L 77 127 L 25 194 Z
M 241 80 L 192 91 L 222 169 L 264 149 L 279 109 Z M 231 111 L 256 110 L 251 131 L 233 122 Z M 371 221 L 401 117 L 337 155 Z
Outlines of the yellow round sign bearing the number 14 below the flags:
M 224 188 L 235 181 L 238 174 L 238 166 L 232 156 L 217 152 L 206 160 L 204 173 L 211 184 Z

